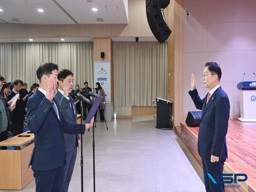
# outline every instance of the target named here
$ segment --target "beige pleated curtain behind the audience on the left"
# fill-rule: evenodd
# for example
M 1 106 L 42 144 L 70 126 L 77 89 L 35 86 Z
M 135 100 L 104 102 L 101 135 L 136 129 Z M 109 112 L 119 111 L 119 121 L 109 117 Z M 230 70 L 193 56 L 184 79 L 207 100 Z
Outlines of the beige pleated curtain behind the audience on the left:
M 58 64 L 59 70 L 74 73 L 74 84 L 93 86 L 93 42 L 0 43 L 0 75 L 7 82 L 21 79 L 30 85 L 39 82 L 38 66 L 44 62 Z

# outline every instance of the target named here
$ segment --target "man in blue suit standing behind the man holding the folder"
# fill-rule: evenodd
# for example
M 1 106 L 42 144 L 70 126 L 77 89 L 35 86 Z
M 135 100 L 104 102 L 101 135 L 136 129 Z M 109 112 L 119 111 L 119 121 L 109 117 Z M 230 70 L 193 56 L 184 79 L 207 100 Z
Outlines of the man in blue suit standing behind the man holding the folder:
M 55 95 L 53 96 L 53 98 L 56 101 L 57 106 L 60 106 L 61 98 L 64 95 L 64 80 L 67 85 L 68 93 L 70 94 L 73 90 L 73 73 L 67 69 L 61 70 L 58 72 L 58 80 L 59 88 L 57 93 L 55 93 Z M 62 116 L 67 122 L 76 124 L 76 107 L 70 95 L 69 98 L 70 104 L 67 106 L 67 110 L 60 111 L 65 111 L 65 113 L 62 114 Z M 66 142 L 66 164 L 64 165 L 62 192 L 68 192 L 69 183 L 76 163 L 76 148 L 79 146 L 80 140 L 78 134 L 74 135 L 64 133 L 64 138 Z

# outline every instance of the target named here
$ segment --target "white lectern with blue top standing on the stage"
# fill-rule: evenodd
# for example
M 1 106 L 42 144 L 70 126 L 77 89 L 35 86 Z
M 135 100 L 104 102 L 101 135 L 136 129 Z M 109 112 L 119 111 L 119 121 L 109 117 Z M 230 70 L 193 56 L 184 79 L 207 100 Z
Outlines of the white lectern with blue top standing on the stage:
M 237 84 L 239 90 L 241 122 L 256 122 L 256 82 L 243 81 Z

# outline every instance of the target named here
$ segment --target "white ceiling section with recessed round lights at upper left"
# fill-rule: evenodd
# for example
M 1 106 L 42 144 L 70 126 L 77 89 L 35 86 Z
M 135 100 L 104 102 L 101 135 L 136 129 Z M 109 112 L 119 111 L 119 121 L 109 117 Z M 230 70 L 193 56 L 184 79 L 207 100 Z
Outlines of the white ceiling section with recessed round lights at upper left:
M 107 10 L 106 7 L 117 8 Z M 0 0 L 0 22 L 29 24 L 128 23 L 128 0 Z M 44 12 L 37 10 L 41 8 Z M 92 8 L 97 8 L 93 12 Z M 18 18 L 20 22 L 12 21 Z M 102 18 L 104 22 L 96 21 Z

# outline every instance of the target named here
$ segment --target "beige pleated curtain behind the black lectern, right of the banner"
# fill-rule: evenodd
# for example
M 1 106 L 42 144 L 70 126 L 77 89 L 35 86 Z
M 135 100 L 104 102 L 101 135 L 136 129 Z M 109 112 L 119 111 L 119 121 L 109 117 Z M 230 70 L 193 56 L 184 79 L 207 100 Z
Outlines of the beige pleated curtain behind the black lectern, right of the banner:
M 168 91 L 167 43 L 114 42 L 115 106 L 152 106 Z

